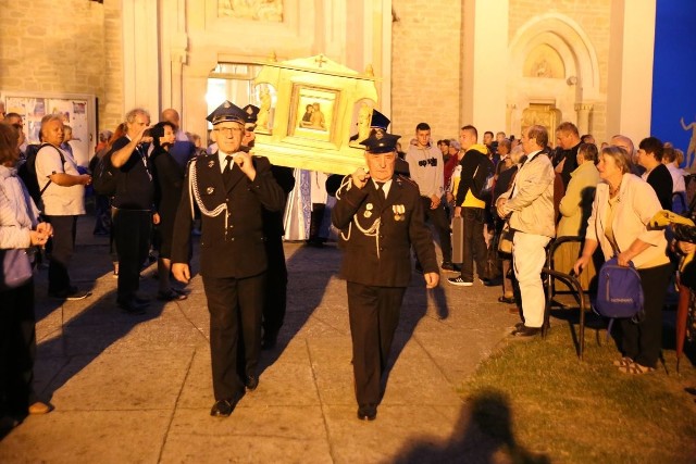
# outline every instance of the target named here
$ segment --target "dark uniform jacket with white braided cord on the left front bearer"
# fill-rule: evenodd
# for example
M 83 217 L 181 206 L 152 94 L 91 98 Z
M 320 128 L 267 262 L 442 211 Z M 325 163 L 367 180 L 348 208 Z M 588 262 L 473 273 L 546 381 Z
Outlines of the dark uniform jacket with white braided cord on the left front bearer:
M 191 202 L 191 190 L 195 190 L 206 210 L 222 210 L 214 217 L 201 210 L 201 275 L 244 278 L 265 271 L 262 212 L 264 209 L 281 211 L 285 195 L 273 178 L 269 160 L 263 156 L 252 160 L 257 170 L 253 181 L 233 163 L 233 181 L 228 188 L 223 181 L 217 154 L 191 160 L 176 213 L 172 262 L 188 262 L 191 204 L 200 210 L 195 198 Z

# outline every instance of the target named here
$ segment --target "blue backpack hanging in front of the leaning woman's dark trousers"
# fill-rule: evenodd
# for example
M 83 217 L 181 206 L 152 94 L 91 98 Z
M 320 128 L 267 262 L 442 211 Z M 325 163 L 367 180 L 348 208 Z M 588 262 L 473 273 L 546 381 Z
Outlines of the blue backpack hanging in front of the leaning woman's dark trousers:
M 644 315 L 643 287 L 641 275 L 633 263 L 630 262 L 625 267 L 620 266 L 614 256 L 602 264 L 598 274 L 595 312 L 611 318 L 607 337 L 616 318 L 631 318 L 636 324 L 641 322 Z

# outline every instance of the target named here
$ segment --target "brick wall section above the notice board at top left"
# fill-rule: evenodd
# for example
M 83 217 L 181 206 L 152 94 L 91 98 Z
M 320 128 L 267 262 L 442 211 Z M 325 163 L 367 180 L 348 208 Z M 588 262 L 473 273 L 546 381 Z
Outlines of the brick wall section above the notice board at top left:
M 99 99 L 99 129 L 123 118 L 121 1 L 3 2 L 0 90 L 87 93 Z

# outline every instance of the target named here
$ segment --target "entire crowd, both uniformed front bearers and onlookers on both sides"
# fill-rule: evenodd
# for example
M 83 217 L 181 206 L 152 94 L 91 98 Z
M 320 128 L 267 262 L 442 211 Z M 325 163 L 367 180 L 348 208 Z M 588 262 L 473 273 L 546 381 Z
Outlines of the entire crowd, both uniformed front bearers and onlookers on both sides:
M 250 153 L 258 114 L 253 105 L 241 109 L 225 101 L 208 116 L 213 143 L 204 150 L 200 138 L 182 130 L 175 110 L 164 110 L 151 125 L 146 110 L 134 109 L 113 131 L 100 133 L 91 174 L 75 162 L 61 117 L 44 117 L 41 145 L 33 150 L 26 147 L 21 115 L 10 113 L 0 124 L 0 249 L 41 249 L 38 254 L 49 260 L 51 298 L 90 297 L 72 285 L 69 269 L 86 188 L 101 180 L 102 172 L 114 181 L 109 191 L 95 183 L 100 188 L 94 233 L 111 237 L 116 304 L 125 313 L 144 314 L 150 304 L 139 281 L 153 248 L 157 298 L 187 298 L 182 284 L 191 277 L 192 233 L 200 225 L 213 416 L 228 416 L 245 392 L 257 388 L 259 351 L 275 346 L 285 314 L 283 212 L 295 178 L 291 170 Z M 655 369 L 673 263 L 676 254 L 693 250 L 685 242 L 668 242 L 663 230 L 648 226 L 661 210 L 688 212 L 680 150 L 655 137 L 644 138 L 635 150 L 622 135 L 597 147 L 592 135 L 581 137 L 574 124 L 564 122 L 556 128 L 555 149 L 548 129 L 539 125 L 524 128 L 519 139 L 486 131 L 482 142 L 476 127 L 464 125 L 458 140 L 434 142 L 430 125 L 420 123 L 401 151 L 388 124 L 374 111 L 369 137 L 359 141 L 369 171 L 339 176 L 340 186 L 334 187 L 335 176 L 314 178 L 336 198 L 332 222 L 345 254 L 341 274 L 348 283 L 360 419 L 376 417 L 381 379 L 411 278 L 411 250 L 426 288 L 439 284 L 440 272 L 451 273 L 447 281 L 457 287 L 474 286 L 475 276 L 485 286 L 500 286 L 498 301 L 512 304 L 521 317 L 513 337 L 536 336 L 545 324 L 545 291 L 550 290 L 542 269 L 555 238 L 577 238 L 559 248 L 556 269 L 574 272 L 586 289 L 602 260 L 632 262 L 643 280 L 645 317 L 621 322 L 622 355 L 616 366 L 626 374 Z M 21 163 L 38 184 L 37 192 L 17 176 Z M 312 199 L 318 216 L 324 213 L 323 201 Z M 319 217 L 312 221 L 318 224 Z M 452 235 L 455 221 L 461 222 L 461 236 Z M 509 231 L 512 251 L 502 253 L 497 243 Z M 313 229 L 310 244 L 316 240 Z M 34 285 L 29 279 L 0 292 L 12 305 L 0 312 L 0 411 L 21 421 L 51 410 L 32 389 Z

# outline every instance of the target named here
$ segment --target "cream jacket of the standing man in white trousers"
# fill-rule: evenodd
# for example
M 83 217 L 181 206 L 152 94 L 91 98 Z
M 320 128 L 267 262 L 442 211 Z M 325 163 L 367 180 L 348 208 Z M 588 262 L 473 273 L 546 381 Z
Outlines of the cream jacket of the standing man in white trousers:
M 543 152 L 520 165 L 512 189 L 500 196 L 508 199 L 504 212 L 506 215 L 512 213 L 510 227 L 526 234 L 556 236 L 555 178 L 551 161 Z

